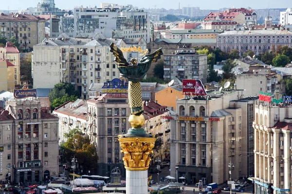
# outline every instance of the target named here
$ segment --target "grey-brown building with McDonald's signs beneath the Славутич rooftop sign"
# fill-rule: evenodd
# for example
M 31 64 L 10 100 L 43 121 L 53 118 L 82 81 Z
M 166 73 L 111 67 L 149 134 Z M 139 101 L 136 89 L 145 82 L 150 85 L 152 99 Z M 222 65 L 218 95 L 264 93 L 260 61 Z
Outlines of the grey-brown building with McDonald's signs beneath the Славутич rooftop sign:
M 38 100 L 6 101 L 0 113 L 0 179 L 33 184 L 58 176 L 58 120 Z

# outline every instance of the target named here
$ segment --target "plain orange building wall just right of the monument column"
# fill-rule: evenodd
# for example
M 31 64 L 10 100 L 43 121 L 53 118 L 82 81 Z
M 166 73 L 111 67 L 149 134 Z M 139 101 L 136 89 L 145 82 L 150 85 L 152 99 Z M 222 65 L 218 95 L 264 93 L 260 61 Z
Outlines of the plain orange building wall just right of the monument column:
M 176 110 L 176 100 L 183 98 L 182 86 L 170 86 L 155 94 L 155 100 L 157 103 L 168 106 Z

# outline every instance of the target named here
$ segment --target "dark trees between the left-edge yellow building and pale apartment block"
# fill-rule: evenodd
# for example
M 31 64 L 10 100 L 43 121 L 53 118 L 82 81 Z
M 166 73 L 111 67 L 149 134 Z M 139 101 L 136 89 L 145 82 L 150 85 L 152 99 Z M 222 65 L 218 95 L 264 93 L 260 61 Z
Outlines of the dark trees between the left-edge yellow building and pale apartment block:
M 32 53 L 24 53 L 20 59 L 20 78 L 32 82 Z M 30 84 L 30 83 L 28 83 Z

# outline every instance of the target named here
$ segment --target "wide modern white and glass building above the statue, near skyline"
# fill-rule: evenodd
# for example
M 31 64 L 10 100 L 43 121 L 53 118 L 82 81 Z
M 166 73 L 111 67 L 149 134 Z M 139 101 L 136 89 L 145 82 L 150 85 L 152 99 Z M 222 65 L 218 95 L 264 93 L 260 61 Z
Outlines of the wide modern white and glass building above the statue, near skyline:
M 79 32 L 89 36 L 102 32 L 111 38 L 112 31 L 120 32 L 125 38 L 143 37 L 147 43 L 150 42 L 150 20 L 147 12 L 133 9 L 131 5 L 74 8 L 74 36 Z

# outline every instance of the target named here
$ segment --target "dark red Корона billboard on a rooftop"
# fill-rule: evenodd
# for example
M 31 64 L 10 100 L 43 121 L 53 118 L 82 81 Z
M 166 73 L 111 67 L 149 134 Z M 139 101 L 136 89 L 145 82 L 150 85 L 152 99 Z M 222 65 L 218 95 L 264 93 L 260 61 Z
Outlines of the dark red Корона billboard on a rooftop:
M 201 80 L 183 80 L 183 95 L 206 96 Z

